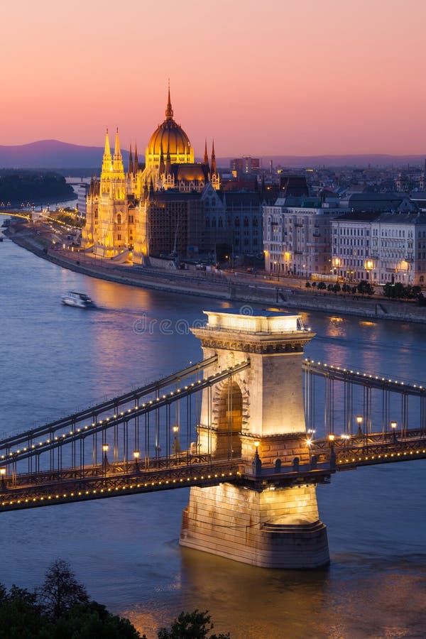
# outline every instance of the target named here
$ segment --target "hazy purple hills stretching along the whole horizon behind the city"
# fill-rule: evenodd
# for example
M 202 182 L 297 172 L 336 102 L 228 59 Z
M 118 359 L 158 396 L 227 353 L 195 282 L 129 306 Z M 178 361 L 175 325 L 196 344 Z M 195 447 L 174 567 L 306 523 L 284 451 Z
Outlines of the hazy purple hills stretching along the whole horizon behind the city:
M 100 146 L 83 146 L 69 144 L 58 140 L 40 140 L 20 146 L 0 146 L 0 168 L 46 168 L 46 169 L 71 169 L 93 167 L 99 173 L 102 165 L 104 148 Z M 124 168 L 127 167 L 129 152 L 122 150 Z M 256 156 L 256 153 L 253 153 Z M 236 158 L 238 155 L 233 155 Z M 283 167 L 371 167 L 376 166 L 403 166 L 425 165 L 424 155 L 263 155 L 263 170 L 268 171 L 269 160 L 273 166 Z M 198 158 L 201 160 L 201 158 Z M 143 158 L 140 158 L 143 161 Z M 221 168 L 229 167 L 230 157 L 217 158 Z

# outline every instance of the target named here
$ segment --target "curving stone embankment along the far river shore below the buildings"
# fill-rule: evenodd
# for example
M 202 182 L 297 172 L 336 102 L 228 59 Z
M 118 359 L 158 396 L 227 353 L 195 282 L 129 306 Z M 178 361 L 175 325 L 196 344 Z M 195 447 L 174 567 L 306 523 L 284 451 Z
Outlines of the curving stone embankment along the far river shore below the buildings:
M 426 308 L 382 297 L 361 298 L 294 288 L 283 282 L 243 273 L 164 271 L 116 264 L 92 254 L 57 250 L 47 234 L 26 224 L 12 224 L 7 236 L 19 246 L 52 263 L 93 278 L 182 295 L 211 297 L 237 304 L 261 304 L 296 310 L 355 315 L 368 320 L 395 320 L 426 324 Z M 57 245 L 56 245 L 57 246 Z

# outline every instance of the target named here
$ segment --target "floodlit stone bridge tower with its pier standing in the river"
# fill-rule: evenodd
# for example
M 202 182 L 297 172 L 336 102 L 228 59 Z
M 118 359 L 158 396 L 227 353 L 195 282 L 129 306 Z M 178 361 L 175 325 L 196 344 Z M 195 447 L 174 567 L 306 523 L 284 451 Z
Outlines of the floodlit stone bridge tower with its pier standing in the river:
M 284 312 L 206 314 L 206 326 L 192 329 L 204 359 L 217 354 L 206 376 L 247 359 L 250 366 L 203 391 L 197 447 L 213 459 L 241 457 L 258 481 L 191 488 L 180 544 L 261 567 L 323 566 L 329 563 L 327 529 L 315 485 L 262 481 L 259 463 L 309 464 L 302 354 L 314 334 L 303 329 L 300 315 Z

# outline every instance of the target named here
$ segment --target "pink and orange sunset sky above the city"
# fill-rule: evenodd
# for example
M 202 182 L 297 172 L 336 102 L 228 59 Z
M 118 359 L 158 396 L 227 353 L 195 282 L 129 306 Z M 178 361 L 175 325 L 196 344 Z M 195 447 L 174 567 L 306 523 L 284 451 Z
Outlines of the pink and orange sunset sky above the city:
M 0 145 L 143 153 L 164 119 L 202 155 L 426 153 L 425 0 L 2 4 Z

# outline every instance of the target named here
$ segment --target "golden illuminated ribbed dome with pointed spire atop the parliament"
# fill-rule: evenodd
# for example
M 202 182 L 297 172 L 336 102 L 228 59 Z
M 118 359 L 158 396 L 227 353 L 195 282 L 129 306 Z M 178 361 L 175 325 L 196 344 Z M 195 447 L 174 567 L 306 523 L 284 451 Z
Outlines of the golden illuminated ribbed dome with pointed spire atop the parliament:
M 188 138 L 182 127 L 173 119 L 170 89 L 168 92 L 168 103 L 165 109 L 165 121 L 155 129 L 146 147 L 146 168 L 158 168 L 162 152 L 164 160 L 166 160 L 167 154 L 170 154 L 170 163 L 172 164 L 194 162 L 194 151 L 190 143 L 190 138 Z

